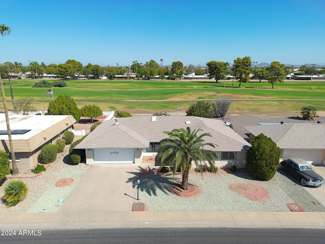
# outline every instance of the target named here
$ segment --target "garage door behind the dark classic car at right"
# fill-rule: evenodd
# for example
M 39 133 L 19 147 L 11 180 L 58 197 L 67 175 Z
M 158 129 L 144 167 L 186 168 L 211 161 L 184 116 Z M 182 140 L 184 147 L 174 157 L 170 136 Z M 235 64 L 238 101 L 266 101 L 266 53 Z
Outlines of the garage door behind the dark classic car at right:
M 322 149 L 284 149 L 283 159 L 298 158 L 312 164 L 321 164 Z

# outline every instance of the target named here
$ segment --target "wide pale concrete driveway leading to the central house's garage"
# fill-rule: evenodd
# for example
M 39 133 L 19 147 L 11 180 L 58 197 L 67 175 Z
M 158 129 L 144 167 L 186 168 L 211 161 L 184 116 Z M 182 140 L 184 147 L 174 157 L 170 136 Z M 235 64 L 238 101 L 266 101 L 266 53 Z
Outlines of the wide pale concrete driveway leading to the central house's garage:
M 138 169 L 134 164 L 91 165 L 59 212 L 131 211 Z

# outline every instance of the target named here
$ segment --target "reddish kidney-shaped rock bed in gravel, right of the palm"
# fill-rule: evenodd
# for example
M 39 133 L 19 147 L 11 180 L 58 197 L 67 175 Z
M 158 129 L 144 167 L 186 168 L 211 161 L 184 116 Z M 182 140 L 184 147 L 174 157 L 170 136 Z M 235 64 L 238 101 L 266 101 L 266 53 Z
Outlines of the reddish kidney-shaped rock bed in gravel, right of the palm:
M 263 201 L 269 197 L 265 188 L 254 183 L 232 183 L 228 187 L 252 201 Z

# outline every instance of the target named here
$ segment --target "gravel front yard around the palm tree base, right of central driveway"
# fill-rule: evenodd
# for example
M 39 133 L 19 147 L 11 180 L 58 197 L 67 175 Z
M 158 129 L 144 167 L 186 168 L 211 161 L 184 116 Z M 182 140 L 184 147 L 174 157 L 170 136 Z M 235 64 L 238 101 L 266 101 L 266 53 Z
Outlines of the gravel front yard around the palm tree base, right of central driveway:
M 325 207 L 315 205 L 317 200 L 302 187 L 298 180 L 282 168 L 270 181 L 259 181 L 247 173 L 190 174 L 189 181 L 198 187 L 200 194 L 193 197 L 178 197 L 170 188 L 181 176 L 145 175 L 140 177 L 141 202 L 147 211 L 290 211 L 287 203 L 298 203 L 304 211 L 324 212 Z M 231 183 L 254 183 L 264 187 L 269 197 L 263 201 L 252 201 L 232 191 Z

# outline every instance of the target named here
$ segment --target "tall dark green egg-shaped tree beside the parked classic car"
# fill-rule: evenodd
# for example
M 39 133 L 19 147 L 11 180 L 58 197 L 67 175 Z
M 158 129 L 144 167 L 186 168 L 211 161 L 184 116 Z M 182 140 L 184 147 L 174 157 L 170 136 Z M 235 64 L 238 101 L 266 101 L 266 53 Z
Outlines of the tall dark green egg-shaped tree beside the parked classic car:
M 250 173 L 261 180 L 273 178 L 279 166 L 280 148 L 264 134 L 253 140 L 246 154 L 246 166 Z

